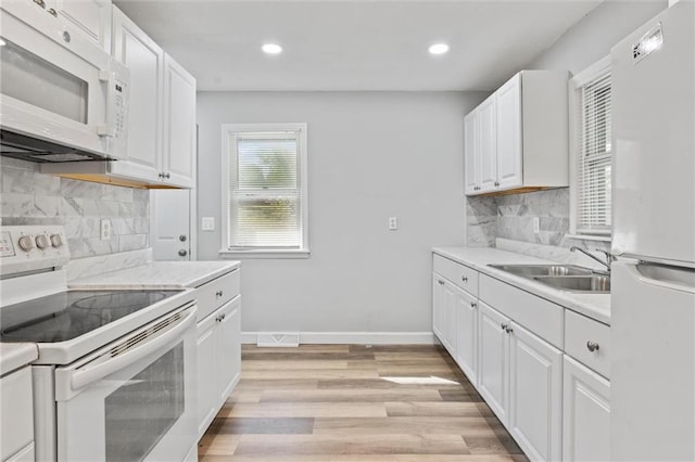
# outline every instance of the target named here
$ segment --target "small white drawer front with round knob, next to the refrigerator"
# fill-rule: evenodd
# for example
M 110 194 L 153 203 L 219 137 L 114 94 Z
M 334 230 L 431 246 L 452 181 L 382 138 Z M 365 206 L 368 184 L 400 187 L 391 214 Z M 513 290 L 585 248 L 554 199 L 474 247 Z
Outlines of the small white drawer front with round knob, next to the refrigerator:
M 591 351 L 589 343 L 598 346 Z M 610 378 L 610 328 L 591 318 L 567 310 L 565 313 L 565 352 Z

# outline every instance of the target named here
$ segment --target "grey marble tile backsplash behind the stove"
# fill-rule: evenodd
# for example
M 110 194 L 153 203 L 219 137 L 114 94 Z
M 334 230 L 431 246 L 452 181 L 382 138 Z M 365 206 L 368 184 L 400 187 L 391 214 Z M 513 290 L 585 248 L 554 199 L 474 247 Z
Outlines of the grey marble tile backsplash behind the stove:
M 72 258 L 149 247 L 150 192 L 41 175 L 38 164 L 0 158 L 2 224 L 63 224 Z M 100 239 L 100 220 L 111 239 Z

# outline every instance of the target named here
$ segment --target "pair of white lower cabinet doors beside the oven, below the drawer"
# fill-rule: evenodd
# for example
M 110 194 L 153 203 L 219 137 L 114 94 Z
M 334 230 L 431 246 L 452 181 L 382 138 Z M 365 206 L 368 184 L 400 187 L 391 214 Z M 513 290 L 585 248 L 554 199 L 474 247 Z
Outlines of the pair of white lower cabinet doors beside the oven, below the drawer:
M 203 436 L 241 374 L 241 295 L 198 323 L 198 433 Z

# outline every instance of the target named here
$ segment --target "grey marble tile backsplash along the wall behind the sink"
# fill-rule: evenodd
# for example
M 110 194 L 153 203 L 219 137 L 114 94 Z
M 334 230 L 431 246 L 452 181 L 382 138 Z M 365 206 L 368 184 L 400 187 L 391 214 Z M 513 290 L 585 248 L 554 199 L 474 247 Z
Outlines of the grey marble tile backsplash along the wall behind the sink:
M 546 246 L 603 248 L 607 242 L 569 238 L 569 188 L 466 198 L 467 245 L 494 247 L 498 239 Z M 533 221 L 539 220 L 539 232 Z

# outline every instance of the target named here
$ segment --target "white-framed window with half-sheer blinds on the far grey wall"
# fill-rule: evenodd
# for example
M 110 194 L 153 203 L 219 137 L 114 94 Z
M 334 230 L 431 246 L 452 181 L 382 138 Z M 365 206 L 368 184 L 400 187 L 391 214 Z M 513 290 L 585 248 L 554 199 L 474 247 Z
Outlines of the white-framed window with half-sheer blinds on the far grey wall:
M 307 256 L 306 124 L 223 126 L 222 253 Z

